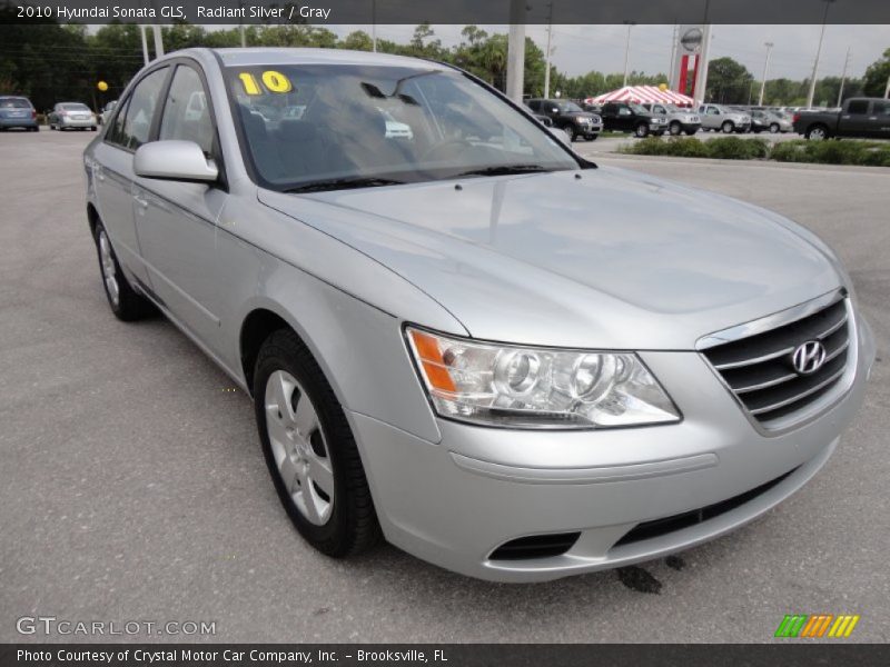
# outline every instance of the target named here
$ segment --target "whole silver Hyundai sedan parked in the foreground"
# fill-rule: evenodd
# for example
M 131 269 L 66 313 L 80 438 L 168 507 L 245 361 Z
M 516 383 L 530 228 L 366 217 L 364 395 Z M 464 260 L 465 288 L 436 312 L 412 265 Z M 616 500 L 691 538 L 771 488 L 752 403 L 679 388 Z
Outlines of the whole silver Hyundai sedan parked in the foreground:
M 873 338 L 815 236 L 596 168 L 449 66 L 176 52 L 85 163 L 115 315 L 160 309 L 253 396 L 330 556 L 655 558 L 793 494 L 862 402 Z

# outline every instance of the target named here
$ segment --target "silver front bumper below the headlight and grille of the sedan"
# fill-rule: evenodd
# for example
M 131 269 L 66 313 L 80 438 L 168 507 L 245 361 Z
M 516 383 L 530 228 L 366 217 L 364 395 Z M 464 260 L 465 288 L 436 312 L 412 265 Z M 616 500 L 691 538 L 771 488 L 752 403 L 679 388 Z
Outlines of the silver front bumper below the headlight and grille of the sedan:
M 862 402 L 874 340 L 858 326 L 853 380 L 805 426 L 759 434 L 696 352 L 645 352 L 684 415 L 676 425 L 590 431 L 438 420 L 438 442 L 350 412 L 387 539 L 444 568 L 543 581 L 656 558 L 725 534 L 797 491 L 828 460 Z M 617 545 L 639 524 L 769 489 L 702 522 Z M 510 540 L 580 532 L 566 552 L 496 560 Z

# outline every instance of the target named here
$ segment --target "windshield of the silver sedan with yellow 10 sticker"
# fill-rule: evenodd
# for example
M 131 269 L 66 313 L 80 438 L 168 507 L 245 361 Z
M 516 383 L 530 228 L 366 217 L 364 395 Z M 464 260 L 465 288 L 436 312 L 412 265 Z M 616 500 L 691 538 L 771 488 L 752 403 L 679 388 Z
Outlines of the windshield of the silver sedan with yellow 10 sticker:
M 226 74 L 245 160 L 271 189 L 578 168 L 537 121 L 456 71 L 280 64 Z

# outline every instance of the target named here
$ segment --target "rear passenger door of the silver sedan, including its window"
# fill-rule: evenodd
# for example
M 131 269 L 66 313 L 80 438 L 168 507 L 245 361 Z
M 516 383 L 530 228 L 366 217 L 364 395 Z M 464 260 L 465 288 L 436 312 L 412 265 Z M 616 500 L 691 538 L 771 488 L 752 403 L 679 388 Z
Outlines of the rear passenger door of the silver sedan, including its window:
M 136 148 L 148 139 L 154 107 L 147 104 L 152 99 L 157 101 L 169 70 L 169 67 L 162 67 L 142 77 L 128 99 L 121 102 L 102 142 L 96 148 L 91 175 L 96 183 L 99 217 L 118 260 L 147 291 L 150 291 L 150 280 L 134 220 L 132 187 L 136 175 L 132 157 Z

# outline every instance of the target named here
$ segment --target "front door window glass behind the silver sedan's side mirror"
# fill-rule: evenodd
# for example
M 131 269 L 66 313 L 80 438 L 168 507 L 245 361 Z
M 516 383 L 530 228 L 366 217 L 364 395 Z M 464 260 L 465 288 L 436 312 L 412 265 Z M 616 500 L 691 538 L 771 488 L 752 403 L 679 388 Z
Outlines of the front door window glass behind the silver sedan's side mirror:
M 164 106 L 158 139 L 194 141 L 206 153 L 214 148 L 214 122 L 198 72 L 180 64 Z

